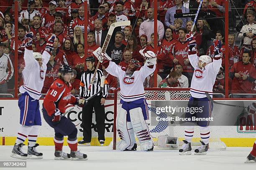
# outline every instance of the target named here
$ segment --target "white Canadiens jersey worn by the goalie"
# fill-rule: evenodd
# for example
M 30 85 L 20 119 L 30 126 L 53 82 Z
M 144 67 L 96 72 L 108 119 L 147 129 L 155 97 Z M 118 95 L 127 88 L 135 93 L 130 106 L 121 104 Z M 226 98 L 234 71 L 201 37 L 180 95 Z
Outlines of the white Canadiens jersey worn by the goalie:
M 153 68 L 149 68 L 144 65 L 133 72 L 131 77 L 125 74 L 125 67 L 120 67 L 115 62 L 110 61 L 106 71 L 111 75 L 118 77 L 120 81 L 120 97 L 125 102 L 131 102 L 140 98 L 145 98 L 145 91 L 143 82 L 145 78 L 154 72 L 156 65 Z

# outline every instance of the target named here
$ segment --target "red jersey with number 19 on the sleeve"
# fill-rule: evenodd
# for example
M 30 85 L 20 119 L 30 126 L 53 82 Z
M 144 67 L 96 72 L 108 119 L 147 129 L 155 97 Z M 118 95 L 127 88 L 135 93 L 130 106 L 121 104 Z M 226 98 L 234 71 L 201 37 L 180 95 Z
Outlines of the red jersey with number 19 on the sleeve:
M 44 97 L 43 106 L 47 111 L 48 115 L 51 116 L 59 109 L 61 113 L 64 113 L 65 107 L 70 103 L 74 104 L 77 102 L 77 98 L 71 95 L 72 85 L 66 84 L 63 80 L 58 78 L 55 80 L 47 95 Z

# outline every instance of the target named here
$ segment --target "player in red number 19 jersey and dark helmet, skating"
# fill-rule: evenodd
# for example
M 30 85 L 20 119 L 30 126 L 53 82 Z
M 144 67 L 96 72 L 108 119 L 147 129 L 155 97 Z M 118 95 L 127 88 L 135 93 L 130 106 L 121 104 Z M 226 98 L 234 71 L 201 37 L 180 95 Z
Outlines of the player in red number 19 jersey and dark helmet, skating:
M 64 116 L 65 107 L 70 103 L 83 107 L 84 99 L 74 97 L 71 94 L 71 78 L 74 76 L 72 68 L 63 65 L 59 68 L 59 78 L 55 80 L 48 90 L 43 103 L 43 115 L 45 121 L 54 128 L 55 160 L 87 160 L 87 155 L 77 150 L 77 128 L 74 123 Z M 68 136 L 67 143 L 70 154 L 62 151 L 64 136 Z

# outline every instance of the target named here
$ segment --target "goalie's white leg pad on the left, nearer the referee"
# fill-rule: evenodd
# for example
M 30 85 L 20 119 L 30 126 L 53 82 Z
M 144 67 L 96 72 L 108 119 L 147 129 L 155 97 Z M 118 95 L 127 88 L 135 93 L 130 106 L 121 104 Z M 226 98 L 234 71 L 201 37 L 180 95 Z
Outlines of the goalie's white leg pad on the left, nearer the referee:
M 118 143 L 118 148 L 123 151 L 126 148 L 128 148 L 130 145 L 132 145 L 132 139 L 128 128 L 128 122 L 126 121 L 127 112 L 125 109 L 120 108 L 120 112 L 117 115 L 117 122 L 116 122 L 116 130 L 118 132 L 118 135 L 120 137 L 120 142 Z M 132 128 L 132 127 L 130 127 Z M 131 129 L 132 130 L 132 129 Z M 133 133 L 134 138 L 134 133 Z M 135 140 L 135 139 L 134 139 Z

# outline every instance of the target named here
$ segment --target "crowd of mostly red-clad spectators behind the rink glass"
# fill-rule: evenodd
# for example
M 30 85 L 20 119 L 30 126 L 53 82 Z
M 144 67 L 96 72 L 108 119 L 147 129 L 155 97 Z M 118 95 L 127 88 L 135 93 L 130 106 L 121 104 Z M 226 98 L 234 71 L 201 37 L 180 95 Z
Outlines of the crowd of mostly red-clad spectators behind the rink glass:
M 214 92 L 225 93 L 224 52 L 227 48 L 230 92 L 256 92 L 256 0 L 246 4 L 243 20 L 237 25 L 237 36 L 242 39 L 241 48 L 235 45 L 237 36 L 234 34 L 228 35 L 228 45 L 225 44 L 225 0 L 203 0 L 193 30 L 193 17 L 174 18 L 174 14 L 195 13 L 200 0 L 158 0 L 157 10 L 153 8 L 154 0 L 88 0 L 88 11 L 84 11 L 83 1 L 30 0 L 28 18 L 28 0 L 18 0 L 18 25 L 14 25 L 14 2 L 0 1 L 0 93 L 13 90 L 15 43 L 18 44 L 18 85 L 23 84 L 24 36 L 26 32 L 32 31 L 34 52 L 44 51 L 46 40 L 52 33 L 57 37 L 54 52 L 47 64 L 42 93 L 46 93 L 51 82 L 58 78 L 57 72 L 61 65 L 71 65 L 76 75 L 72 79 L 72 93 L 78 94 L 79 79 L 87 69 L 85 59 L 94 56 L 92 52 L 102 47 L 110 25 L 124 20 L 131 20 L 131 25 L 115 28 L 106 53 L 121 67 L 126 67 L 132 58 L 137 59 L 142 66 L 145 60 L 138 51 L 144 48 L 154 51 L 156 48 L 157 85 L 154 85 L 152 74 L 146 78 L 144 87 L 190 87 L 193 67 L 188 60 L 186 34 L 193 32 L 198 55 L 209 55 L 213 59 L 213 40 L 222 43 L 223 64 L 216 77 Z M 86 12 L 88 25 L 84 25 Z M 158 17 L 154 18 L 156 12 Z M 157 32 L 154 32 L 155 19 Z M 18 35 L 14 34 L 15 27 L 18 28 Z M 84 38 L 84 31 L 87 31 L 87 38 Z M 157 40 L 154 40 L 154 34 L 157 34 Z M 15 36 L 18 36 L 18 42 L 15 42 Z M 154 47 L 155 41 L 157 47 Z M 87 53 L 84 52 L 85 43 Z M 112 93 L 119 87 L 119 82 L 104 67 L 100 66 L 100 69 Z M 113 96 L 110 94 L 109 97 Z

